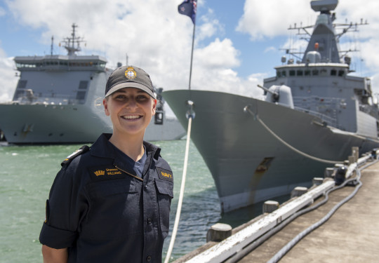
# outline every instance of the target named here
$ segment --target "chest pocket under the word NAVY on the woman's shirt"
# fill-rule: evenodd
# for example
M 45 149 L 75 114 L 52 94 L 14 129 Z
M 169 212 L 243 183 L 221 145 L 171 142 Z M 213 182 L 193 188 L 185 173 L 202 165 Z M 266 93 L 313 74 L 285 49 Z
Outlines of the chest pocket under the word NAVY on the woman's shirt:
M 170 225 L 170 206 L 173 198 L 173 182 L 155 179 L 157 187 L 157 201 L 159 206 L 159 225 L 163 238 L 168 235 L 168 227 Z

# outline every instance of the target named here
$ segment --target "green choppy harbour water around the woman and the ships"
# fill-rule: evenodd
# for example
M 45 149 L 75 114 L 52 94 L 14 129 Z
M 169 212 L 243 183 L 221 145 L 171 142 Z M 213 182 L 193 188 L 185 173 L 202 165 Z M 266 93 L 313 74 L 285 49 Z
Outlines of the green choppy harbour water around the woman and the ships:
M 185 140 L 155 142 L 174 173 L 171 230 L 182 177 Z M 39 231 L 45 219 L 45 201 L 60 162 L 81 145 L 0 147 L 0 262 L 42 262 Z M 171 255 L 178 259 L 206 243 L 206 232 L 217 222 L 237 227 L 261 213 L 262 206 L 220 215 L 211 173 L 194 144 L 190 144 L 185 196 L 178 234 Z M 171 238 L 164 244 L 164 257 Z

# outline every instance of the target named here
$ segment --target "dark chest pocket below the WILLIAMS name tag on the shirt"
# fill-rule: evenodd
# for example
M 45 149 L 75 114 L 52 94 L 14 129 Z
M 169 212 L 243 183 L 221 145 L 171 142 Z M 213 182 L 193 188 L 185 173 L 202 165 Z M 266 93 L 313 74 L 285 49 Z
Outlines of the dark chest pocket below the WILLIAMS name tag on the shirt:
M 82 236 L 105 242 L 109 238 L 142 234 L 141 187 L 142 182 L 133 179 L 101 181 L 89 185 L 87 192 L 90 204 Z

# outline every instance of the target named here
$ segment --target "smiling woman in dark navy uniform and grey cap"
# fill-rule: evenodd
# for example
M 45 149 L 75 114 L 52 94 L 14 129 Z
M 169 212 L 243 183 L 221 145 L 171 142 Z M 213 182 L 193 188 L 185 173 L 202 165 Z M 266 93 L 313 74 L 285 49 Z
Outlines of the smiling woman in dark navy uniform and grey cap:
M 157 100 L 149 75 L 119 67 L 103 100 L 113 133 L 67 157 L 46 201 L 44 262 L 159 262 L 173 173 L 143 141 Z

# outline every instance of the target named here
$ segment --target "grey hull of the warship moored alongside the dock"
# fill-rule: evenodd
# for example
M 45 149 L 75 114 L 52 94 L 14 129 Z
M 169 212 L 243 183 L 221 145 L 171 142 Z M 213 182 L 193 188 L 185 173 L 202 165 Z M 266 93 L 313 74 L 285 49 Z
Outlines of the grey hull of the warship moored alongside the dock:
M 204 90 L 168 90 L 164 97 L 185 127 L 185 101 L 194 102 L 191 139 L 213 175 L 224 212 L 309 187 L 331 163 L 347 159 L 352 147 L 365 152 L 379 145 L 375 138 L 321 126 L 316 116 L 251 97 Z

